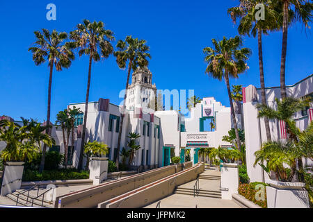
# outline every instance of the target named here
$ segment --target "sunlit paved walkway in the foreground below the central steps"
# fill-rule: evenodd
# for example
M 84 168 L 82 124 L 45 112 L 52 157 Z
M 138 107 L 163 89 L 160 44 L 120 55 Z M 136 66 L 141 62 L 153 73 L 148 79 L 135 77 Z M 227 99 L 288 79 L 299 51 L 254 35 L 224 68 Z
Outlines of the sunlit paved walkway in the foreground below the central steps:
M 172 194 L 160 200 L 160 208 L 241 208 L 234 200 L 222 200 L 203 196 L 189 196 L 184 194 Z M 159 201 L 147 205 L 144 208 L 155 208 Z

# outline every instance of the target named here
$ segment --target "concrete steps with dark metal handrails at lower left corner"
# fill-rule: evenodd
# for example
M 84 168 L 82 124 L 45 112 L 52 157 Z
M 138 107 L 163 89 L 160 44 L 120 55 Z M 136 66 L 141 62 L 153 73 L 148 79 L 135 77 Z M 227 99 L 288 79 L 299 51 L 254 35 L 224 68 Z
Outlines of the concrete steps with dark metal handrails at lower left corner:
M 23 191 L 25 191 L 25 189 L 18 189 L 17 191 L 13 192 L 12 194 L 8 194 L 6 197 L 10 198 L 10 200 L 13 200 L 16 203 L 17 194 L 19 194 L 19 199 L 18 199 L 17 205 L 31 207 L 31 202 L 32 202 L 31 198 L 34 198 L 35 196 L 37 196 L 37 189 L 31 190 L 29 192 L 29 200 L 28 201 L 27 201 L 28 191 L 26 191 L 24 194 L 22 194 Z M 42 194 L 44 191 L 46 191 L 46 189 L 40 189 L 39 195 Z M 33 207 L 41 207 L 41 205 L 42 205 L 42 196 L 33 200 Z M 44 199 L 42 207 L 51 208 L 51 207 L 54 207 L 54 205 L 53 205 L 53 202 L 47 201 Z

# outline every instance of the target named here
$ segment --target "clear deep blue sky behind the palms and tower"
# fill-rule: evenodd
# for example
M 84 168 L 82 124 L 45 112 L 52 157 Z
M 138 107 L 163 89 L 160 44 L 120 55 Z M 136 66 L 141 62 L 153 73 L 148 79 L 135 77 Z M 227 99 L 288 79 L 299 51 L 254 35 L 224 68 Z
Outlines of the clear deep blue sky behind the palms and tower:
M 46 6 L 56 4 L 56 21 L 46 19 Z M 194 89 L 199 97 L 214 96 L 229 105 L 224 82 L 204 74 L 206 64 L 202 49 L 211 46 L 211 38 L 237 35 L 227 8 L 238 1 L 1 1 L 1 103 L 0 115 L 14 119 L 32 117 L 42 121 L 47 115 L 47 63 L 36 67 L 27 51 L 35 41 L 33 31 L 47 28 L 72 31 L 83 19 L 101 20 L 115 33 L 116 40 L 133 35 L 147 40 L 152 60 L 152 83 L 158 89 Z M 312 26 L 312 24 L 310 24 Z M 280 85 L 282 33 L 271 33 L 263 39 L 266 86 Z M 114 45 L 116 42 L 114 42 Z M 259 87 L 257 40 L 244 37 L 252 49 L 250 69 L 234 85 Z M 289 28 L 286 83 L 291 85 L 312 74 L 312 31 L 301 24 Z M 54 72 L 51 96 L 51 121 L 68 103 L 85 101 L 88 58 L 82 56 L 70 69 Z M 93 64 L 90 101 L 110 99 L 119 104 L 118 93 L 125 87 L 126 71 L 118 68 L 115 58 Z

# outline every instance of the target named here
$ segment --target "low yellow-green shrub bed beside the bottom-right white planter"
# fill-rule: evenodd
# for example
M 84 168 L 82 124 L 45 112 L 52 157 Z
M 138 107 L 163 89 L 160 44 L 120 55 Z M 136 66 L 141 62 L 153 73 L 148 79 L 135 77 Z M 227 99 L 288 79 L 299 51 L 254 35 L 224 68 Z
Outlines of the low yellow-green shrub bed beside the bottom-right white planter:
M 257 193 L 257 191 L 259 191 L 259 189 L 255 189 L 255 186 L 258 184 L 264 185 L 265 200 L 256 200 L 255 199 L 255 194 Z M 265 189 L 266 186 L 267 186 L 267 184 L 264 182 L 251 182 L 250 184 L 239 183 L 238 193 L 240 195 L 244 196 L 245 198 L 247 198 L 248 200 L 252 201 L 253 203 L 259 205 L 260 207 L 267 208 L 266 189 Z

